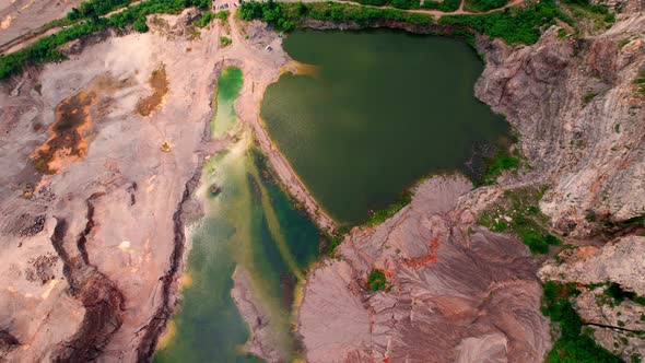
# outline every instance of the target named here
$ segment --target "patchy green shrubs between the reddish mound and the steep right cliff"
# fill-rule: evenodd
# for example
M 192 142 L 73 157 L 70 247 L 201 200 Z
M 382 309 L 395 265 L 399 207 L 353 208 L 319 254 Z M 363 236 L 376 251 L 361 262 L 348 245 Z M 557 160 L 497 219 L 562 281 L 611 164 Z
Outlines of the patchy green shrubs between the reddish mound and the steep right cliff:
M 538 187 L 505 190 L 493 206 L 481 213 L 478 224 L 494 232 L 514 234 L 533 254 L 547 254 L 549 246 L 560 245 L 562 241 L 544 227 L 549 219 L 537 207 L 544 191 L 544 188 Z

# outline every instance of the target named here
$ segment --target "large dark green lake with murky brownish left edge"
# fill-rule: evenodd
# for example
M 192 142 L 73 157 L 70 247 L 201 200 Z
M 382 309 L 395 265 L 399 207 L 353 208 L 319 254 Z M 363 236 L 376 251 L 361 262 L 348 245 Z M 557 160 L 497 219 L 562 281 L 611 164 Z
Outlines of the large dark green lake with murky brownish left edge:
M 321 207 L 341 223 L 395 202 L 423 175 L 464 167 L 473 144 L 506 132 L 473 95 L 482 71 L 462 42 L 394 31 L 297 31 L 295 60 L 261 107 L 271 138 Z

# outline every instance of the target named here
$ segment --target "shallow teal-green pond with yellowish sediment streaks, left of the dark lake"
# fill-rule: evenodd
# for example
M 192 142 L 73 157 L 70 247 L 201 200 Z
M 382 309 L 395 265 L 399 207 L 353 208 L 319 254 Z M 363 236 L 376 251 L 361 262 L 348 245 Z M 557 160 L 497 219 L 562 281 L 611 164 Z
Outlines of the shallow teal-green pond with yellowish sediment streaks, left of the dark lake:
M 156 353 L 156 362 L 260 361 L 242 351 L 249 331 L 231 297 L 236 267 L 250 274 L 253 292 L 279 341 L 275 348 L 295 350 L 291 294 L 297 277 L 316 259 L 319 236 L 274 183 L 249 132 L 235 127 L 233 102 L 241 85 L 237 69 L 219 79 L 213 134 L 235 132 L 238 141 L 204 166 L 198 195 L 208 199 L 208 211 L 191 239 L 191 283 L 183 288 L 180 311 L 169 323 L 176 332 Z M 218 125 L 220 120 L 225 125 Z M 216 197 L 209 194 L 213 183 L 222 189 Z

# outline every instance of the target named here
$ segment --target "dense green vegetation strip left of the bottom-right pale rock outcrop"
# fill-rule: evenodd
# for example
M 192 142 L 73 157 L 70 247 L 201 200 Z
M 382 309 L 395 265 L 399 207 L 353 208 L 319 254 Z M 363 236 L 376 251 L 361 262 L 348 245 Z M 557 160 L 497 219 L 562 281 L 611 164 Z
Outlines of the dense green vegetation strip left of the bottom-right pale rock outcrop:
M 560 339 L 547 355 L 548 363 L 622 362 L 605 348 L 598 346 L 586 331 L 583 321 L 574 311 L 570 297 L 579 294 L 572 283 L 544 283 L 542 314 L 560 325 Z

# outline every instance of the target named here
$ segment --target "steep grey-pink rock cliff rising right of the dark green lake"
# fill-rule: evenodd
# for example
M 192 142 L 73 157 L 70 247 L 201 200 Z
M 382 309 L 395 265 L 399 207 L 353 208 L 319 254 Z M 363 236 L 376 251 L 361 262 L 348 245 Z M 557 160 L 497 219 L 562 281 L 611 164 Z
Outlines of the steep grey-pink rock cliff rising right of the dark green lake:
M 632 8 L 640 7 L 633 2 Z M 532 169 L 503 186 L 542 183 L 554 225 L 588 235 L 585 216 L 620 222 L 645 213 L 645 15 L 632 9 L 580 39 L 549 30 L 533 46 L 481 42 L 486 68 L 476 94 L 521 134 Z

